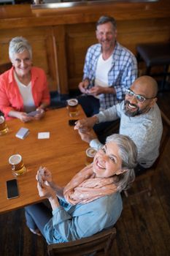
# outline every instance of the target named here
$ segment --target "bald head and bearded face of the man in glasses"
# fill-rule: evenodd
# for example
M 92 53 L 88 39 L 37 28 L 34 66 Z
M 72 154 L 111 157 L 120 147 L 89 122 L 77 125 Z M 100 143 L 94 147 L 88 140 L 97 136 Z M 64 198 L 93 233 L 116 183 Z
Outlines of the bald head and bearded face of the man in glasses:
M 144 102 L 139 102 L 134 96 L 129 96 L 128 94 L 125 95 L 125 115 L 126 116 L 138 116 L 142 113 L 147 113 L 150 108 L 155 104 L 157 98 L 155 97 L 157 94 L 157 86 L 155 80 L 148 77 L 143 76 L 138 78 L 132 83 L 131 91 L 134 94 L 141 95 L 145 98 L 152 98 L 153 99 L 146 99 Z

